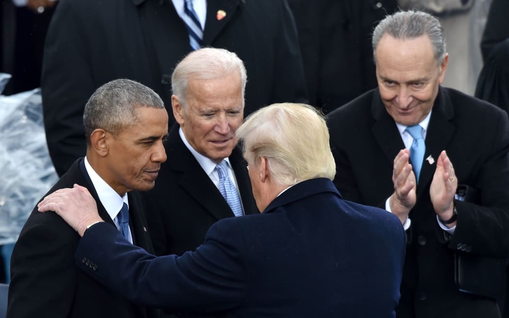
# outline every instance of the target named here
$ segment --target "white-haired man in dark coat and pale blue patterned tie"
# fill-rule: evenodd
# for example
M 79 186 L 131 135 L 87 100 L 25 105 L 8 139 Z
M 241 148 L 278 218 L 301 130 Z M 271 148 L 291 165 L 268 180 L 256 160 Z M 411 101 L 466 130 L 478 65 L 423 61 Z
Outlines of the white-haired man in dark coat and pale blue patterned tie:
M 242 61 L 224 49 L 193 51 L 175 68 L 172 106 L 179 125 L 164 143 L 168 160 L 156 186 L 144 193 L 156 255 L 192 251 L 216 221 L 259 213 L 235 138 L 246 81 Z M 221 178 L 221 164 L 229 180 Z M 225 191 L 229 184 L 236 193 Z

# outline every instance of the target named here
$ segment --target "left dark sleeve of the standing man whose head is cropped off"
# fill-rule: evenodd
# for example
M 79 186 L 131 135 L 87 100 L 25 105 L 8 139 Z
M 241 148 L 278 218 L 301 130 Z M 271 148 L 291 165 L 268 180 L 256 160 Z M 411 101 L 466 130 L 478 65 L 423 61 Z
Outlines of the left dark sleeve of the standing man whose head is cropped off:
M 41 78 L 44 128 L 49 154 L 59 176 L 86 153 L 83 110 L 95 89 L 86 27 L 73 2 L 61 1 L 44 47 Z

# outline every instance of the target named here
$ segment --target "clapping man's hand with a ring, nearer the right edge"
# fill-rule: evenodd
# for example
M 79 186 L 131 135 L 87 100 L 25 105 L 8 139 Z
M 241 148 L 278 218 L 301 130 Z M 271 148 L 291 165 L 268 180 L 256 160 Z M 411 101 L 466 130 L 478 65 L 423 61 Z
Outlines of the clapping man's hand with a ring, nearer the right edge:
M 437 168 L 430 186 L 430 197 L 435 213 L 441 220 L 453 217 L 454 195 L 458 187 L 458 180 L 454 173 L 453 164 L 445 150 L 440 153 Z M 454 224 L 451 224 L 454 226 Z

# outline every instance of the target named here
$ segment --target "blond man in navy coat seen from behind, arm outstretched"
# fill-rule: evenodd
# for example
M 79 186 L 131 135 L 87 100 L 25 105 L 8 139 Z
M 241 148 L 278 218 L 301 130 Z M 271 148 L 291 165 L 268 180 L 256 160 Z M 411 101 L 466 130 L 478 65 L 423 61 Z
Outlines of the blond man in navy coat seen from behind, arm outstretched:
M 342 199 L 317 110 L 264 107 L 237 137 L 263 213 L 216 222 L 205 244 L 180 257 L 128 244 L 93 212 L 84 188 L 54 192 L 40 210 L 55 211 L 82 236 L 75 257 L 84 273 L 139 304 L 229 317 L 394 317 L 403 226 L 386 211 Z

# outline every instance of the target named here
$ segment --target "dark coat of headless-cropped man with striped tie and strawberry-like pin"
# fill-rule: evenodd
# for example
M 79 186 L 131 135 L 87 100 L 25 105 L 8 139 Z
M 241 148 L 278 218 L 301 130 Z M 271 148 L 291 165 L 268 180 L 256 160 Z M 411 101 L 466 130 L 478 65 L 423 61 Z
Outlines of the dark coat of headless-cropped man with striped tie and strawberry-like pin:
M 218 20 L 223 10 L 227 15 Z M 203 46 L 236 52 L 248 83 L 244 115 L 274 102 L 306 102 L 304 71 L 286 0 L 209 0 Z M 117 78 L 158 93 L 170 117 L 173 69 L 191 51 L 171 0 L 62 0 L 49 26 L 42 71 L 44 125 L 56 172 L 86 151 L 83 108 Z

